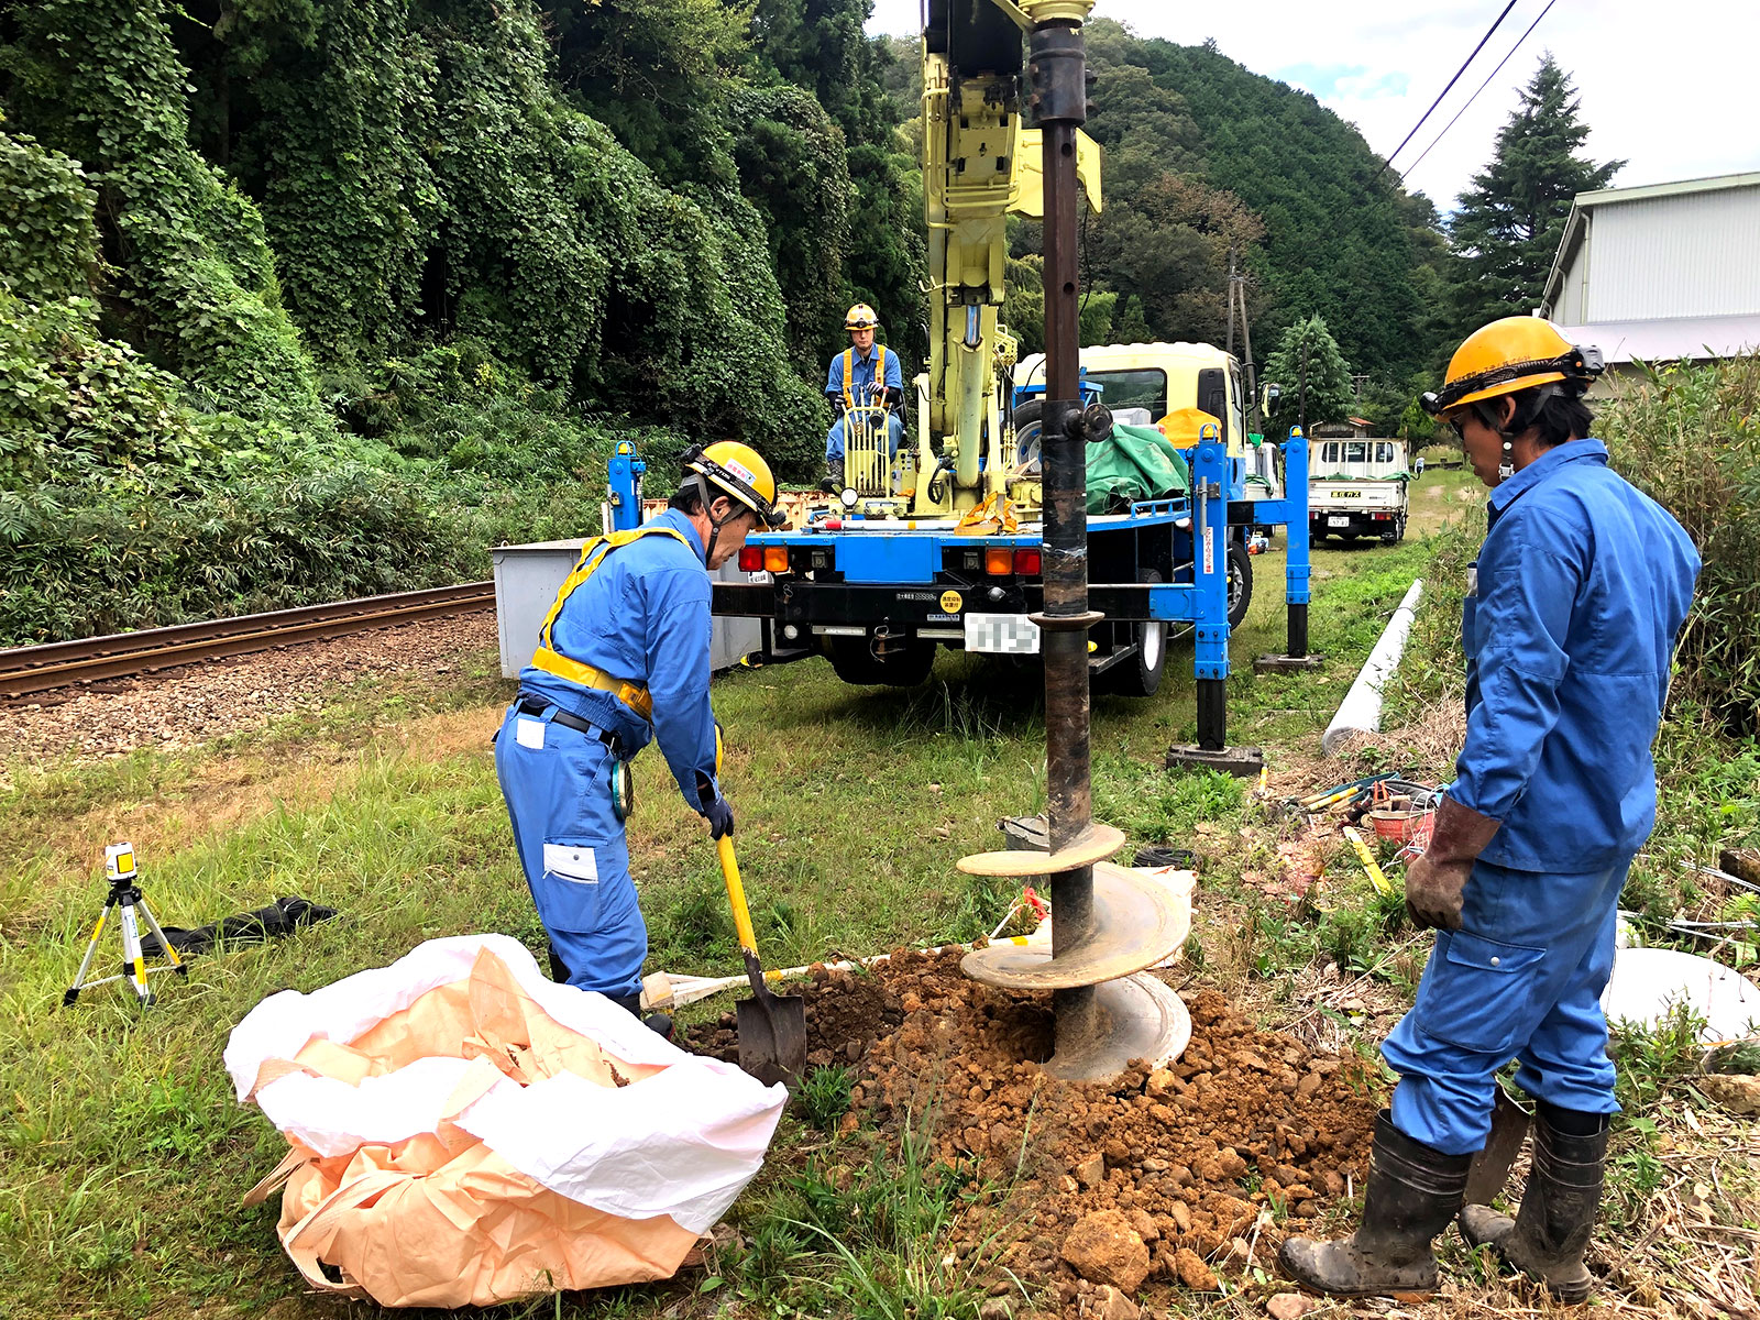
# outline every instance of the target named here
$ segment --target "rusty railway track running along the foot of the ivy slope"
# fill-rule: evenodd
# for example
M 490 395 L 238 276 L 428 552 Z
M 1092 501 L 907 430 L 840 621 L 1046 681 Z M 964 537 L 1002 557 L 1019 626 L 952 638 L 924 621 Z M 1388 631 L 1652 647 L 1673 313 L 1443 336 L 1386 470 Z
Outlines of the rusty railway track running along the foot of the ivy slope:
M 19 646 L 0 651 L 0 699 L 14 700 L 53 688 L 153 674 L 204 660 L 493 607 L 495 583 L 463 583 L 429 591 L 398 591 L 329 605 L 278 609 L 271 614 L 241 614 L 208 623 L 180 623 L 172 628 L 120 632 L 76 642 Z

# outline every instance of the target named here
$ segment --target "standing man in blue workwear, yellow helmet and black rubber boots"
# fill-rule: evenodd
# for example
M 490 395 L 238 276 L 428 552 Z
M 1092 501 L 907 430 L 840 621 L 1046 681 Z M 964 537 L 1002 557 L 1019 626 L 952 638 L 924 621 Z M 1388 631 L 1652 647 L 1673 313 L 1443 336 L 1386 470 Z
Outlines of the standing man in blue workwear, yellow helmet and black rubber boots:
M 1489 532 L 1468 581 L 1466 744 L 1406 912 L 1436 929 L 1417 1003 L 1382 1044 L 1399 1074 L 1375 1132 L 1362 1227 L 1292 1237 L 1281 1262 L 1318 1292 L 1436 1288 L 1433 1239 L 1457 1214 L 1473 1246 L 1554 1297 L 1584 1301 L 1614 1067 L 1602 989 L 1626 868 L 1656 822 L 1651 741 L 1698 553 L 1607 466 L 1582 394 L 1602 370 L 1547 320 L 1471 334 L 1426 408 L 1454 426 L 1485 486 Z M 1496 1072 L 1533 1096 L 1519 1213 L 1466 1206 Z

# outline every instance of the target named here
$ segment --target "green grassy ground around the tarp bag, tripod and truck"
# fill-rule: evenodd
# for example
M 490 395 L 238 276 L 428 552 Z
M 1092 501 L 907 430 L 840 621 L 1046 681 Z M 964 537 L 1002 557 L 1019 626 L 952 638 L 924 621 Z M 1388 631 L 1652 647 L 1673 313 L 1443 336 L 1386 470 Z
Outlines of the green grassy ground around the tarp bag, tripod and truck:
M 1406 544 L 1316 553 L 1313 644 L 1329 656 L 1316 674 L 1251 672 L 1251 656 L 1283 649 L 1281 553 L 1257 560 L 1253 609 L 1234 642 L 1230 739 L 1267 750 L 1274 785 L 1346 778 L 1316 769 L 1318 732 L 1394 604 L 1427 570 L 1424 533 L 1448 517 L 1475 519 L 1480 495 L 1464 473 L 1436 473 L 1415 489 Z M 14 787 L 0 801 L 0 1313 L 268 1311 L 287 1320 L 345 1309 L 296 1287 L 273 1236 L 273 1199 L 239 1207 L 285 1144 L 232 1100 L 220 1051 L 264 994 L 389 963 L 426 938 L 503 931 L 542 949 L 489 755 L 510 685 L 493 655 L 459 669 L 445 688 L 354 688 L 317 716 L 192 753 L 9 767 Z M 1000 817 L 1044 804 L 1033 676 L 943 655 L 926 686 L 894 693 L 847 688 L 813 660 L 734 672 L 718 681 L 715 702 L 767 961 L 970 940 L 1007 910 L 1007 889 L 959 876 L 954 862 L 998 847 Z M 1096 817 L 1123 827 L 1132 845 L 1197 843 L 1211 859 L 1193 947 L 1204 977 L 1278 1023 L 1292 1016 L 1285 1005 L 1301 996 L 1308 970 L 1368 959 L 1368 991 L 1397 1007 L 1422 952 L 1410 940 L 1396 942 L 1397 957 L 1383 949 L 1387 912 L 1352 868 L 1339 866 L 1329 898 L 1299 913 L 1241 885 L 1274 831 L 1241 785 L 1162 769 L 1165 748 L 1192 737 L 1184 646 L 1174 648 L 1156 699 L 1095 702 Z M 736 972 L 702 825 L 658 757 L 637 769 L 630 850 L 649 970 Z M 1739 792 L 1725 801 L 1755 810 Z M 146 892 L 165 922 L 194 926 L 280 894 L 329 903 L 343 917 L 197 959 L 187 982 L 160 979 L 162 1003 L 144 1019 L 116 987 L 62 1010 L 102 898 L 102 847 L 116 838 L 139 847 Z M 1373 1017 L 1325 1023 L 1336 1033 L 1368 1031 L 1362 1047 L 1373 1044 Z M 1658 1095 L 1681 1063 L 1679 1051 L 1653 1060 L 1644 1075 L 1663 1079 Z M 806 1109 L 834 1114 L 834 1089 Z M 832 1250 L 787 1227 L 817 1195 L 813 1170 L 832 1163 L 831 1140 L 810 1118 L 785 1119 L 785 1169 L 736 1207 L 744 1246 L 711 1262 L 715 1272 L 544 1299 L 509 1315 L 975 1315 L 977 1295 L 938 1272 L 933 1250 L 952 1193 L 908 1146 L 885 1155 L 891 1176 L 875 1183 L 889 1199 L 889 1234 Z M 1654 1169 L 1640 1172 L 1660 1177 L 1660 1156 L 1647 1158 Z M 1748 1227 L 1760 1228 L 1751 1218 Z M 869 1288 L 864 1278 L 880 1283 Z

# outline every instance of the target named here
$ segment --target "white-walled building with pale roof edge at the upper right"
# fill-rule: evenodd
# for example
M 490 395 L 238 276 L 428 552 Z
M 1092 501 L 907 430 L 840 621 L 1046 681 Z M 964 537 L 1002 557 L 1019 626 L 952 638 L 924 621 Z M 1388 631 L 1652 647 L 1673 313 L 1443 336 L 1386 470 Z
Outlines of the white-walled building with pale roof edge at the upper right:
M 1760 172 L 1577 194 L 1538 315 L 1609 375 L 1760 350 Z

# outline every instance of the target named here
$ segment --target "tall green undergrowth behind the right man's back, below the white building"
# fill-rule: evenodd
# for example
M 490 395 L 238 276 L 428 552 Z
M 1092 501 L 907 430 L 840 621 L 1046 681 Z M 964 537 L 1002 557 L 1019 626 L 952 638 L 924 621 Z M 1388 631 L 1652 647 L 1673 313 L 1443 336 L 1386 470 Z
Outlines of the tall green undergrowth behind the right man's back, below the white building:
M 1677 700 L 1760 734 L 1760 357 L 1647 370 L 1596 433 L 1705 563 L 1676 656 Z

